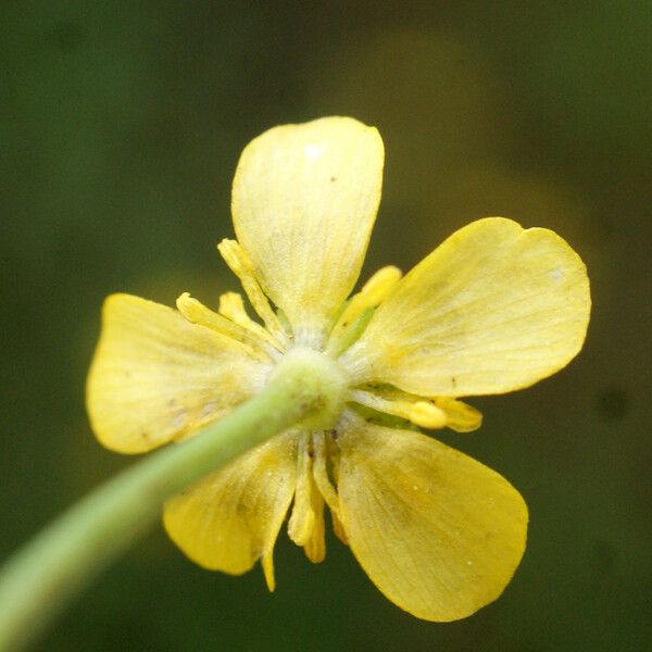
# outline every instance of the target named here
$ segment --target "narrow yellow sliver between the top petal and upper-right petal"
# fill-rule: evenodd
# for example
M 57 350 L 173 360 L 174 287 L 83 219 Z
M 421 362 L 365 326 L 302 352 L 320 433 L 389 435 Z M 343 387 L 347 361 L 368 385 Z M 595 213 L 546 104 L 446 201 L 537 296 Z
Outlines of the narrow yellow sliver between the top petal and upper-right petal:
M 355 341 L 355 338 L 347 337 L 347 331 L 352 328 L 355 329 L 354 327 L 358 326 L 358 329 L 362 333 L 368 323 L 368 318 L 371 318 L 373 310 L 393 292 L 400 279 L 401 271 L 398 267 L 391 265 L 381 267 L 364 284 L 360 292 L 351 297 L 330 333 L 326 348 L 329 355 L 339 355 Z M 359 319 L 364 313 L 367 313 L 367 318 L 364 323 L 361 323 Z M 360 333 L 358 337 L 360 337 Z

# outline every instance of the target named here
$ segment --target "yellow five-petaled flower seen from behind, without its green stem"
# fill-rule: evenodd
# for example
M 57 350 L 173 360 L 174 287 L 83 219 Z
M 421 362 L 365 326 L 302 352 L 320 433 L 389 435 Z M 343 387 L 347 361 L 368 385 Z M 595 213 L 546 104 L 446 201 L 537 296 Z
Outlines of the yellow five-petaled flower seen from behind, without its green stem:
M 274 437 L 170 500 L 167 532 L 206 568 L 240 574 L 260 559 L 273 589 L 288 511 L 290 538 L 319 562 L 326 504 L 385 595 L 421 618 L 453 620 L 510 581 L 527 507 L 496 472 L 416 426 L 473 430 L 481 416 L 460 397 L 527 387 L 566 365 L 585 339 L 589 283 L 554 233 L 491 217 L 403 278 L 380 269 L 347 301 L 383 163 L 376 129 L 347 117 L 253 140 L 234 180 L 238 240 L 218 249 L 262 324 L 231 292 L 218 313 L 188 294 L 178 311 L 110 297 L 88 410 L 104 446 L 149 451 L 259 392 L 285 355 L 313 351 L 341 378 L 338 414 Z

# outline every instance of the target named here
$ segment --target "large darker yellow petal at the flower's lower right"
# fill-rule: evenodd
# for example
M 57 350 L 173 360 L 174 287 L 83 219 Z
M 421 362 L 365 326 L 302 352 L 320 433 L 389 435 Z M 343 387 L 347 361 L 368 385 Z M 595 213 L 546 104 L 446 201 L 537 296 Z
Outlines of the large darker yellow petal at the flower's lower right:
M 389 600 L 446 622 L 500 595 L 527 531 L 527 507 L 504 478 L 429 437 L 359 417 L 339 444 L 349 546 Z

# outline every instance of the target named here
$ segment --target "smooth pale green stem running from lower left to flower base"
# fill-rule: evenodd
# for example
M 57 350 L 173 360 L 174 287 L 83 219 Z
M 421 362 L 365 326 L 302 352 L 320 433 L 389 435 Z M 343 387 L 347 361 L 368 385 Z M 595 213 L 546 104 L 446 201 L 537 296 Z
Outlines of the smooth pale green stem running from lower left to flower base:
M 286 362 L 287 361 L 287 362 Z M 315 366 L 316 363 L 316 366 Z M 0 651 L 16 652 L 154 523 L 167 498 L 333 406 L 314 356 L 286 356 L 265 389 L 191 439 L 118 474 L 15 553 L 0 574 Z

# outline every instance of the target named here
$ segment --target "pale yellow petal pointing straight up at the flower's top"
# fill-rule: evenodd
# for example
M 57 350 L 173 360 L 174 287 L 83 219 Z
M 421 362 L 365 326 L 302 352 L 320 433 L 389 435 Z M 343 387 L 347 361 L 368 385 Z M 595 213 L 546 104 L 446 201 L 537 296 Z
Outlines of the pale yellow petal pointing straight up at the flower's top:
M 242 152 L 234 225 L 301 343 L 321 344 L 360 274 L 380 200 L 375 128 L 327 117 L 265 131 Z

